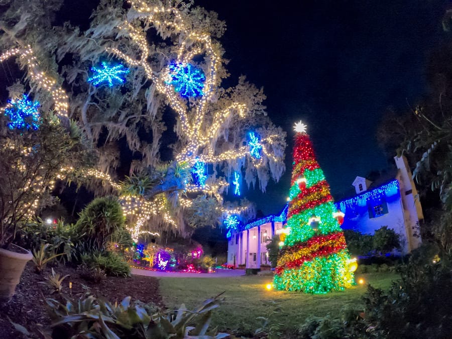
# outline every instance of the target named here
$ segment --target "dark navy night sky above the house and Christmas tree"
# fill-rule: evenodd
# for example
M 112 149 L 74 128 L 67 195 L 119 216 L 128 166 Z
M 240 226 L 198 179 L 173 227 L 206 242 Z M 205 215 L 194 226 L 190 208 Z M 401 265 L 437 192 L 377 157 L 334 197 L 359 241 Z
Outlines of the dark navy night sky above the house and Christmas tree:
M 292 126 L 303 120 L 333 195 L 357 175 L 388 167 L 376 128 L 388 106 L 407 109 L 427 91 L 429 51 L 450 35 L 448 1 L 195 0 L 227 23 L 221 38 L 232 76 L 267 95 L 272 121 L 288 132 L 286 173 L 266 194 L 246 193 L 279 212 L 292 172 Z

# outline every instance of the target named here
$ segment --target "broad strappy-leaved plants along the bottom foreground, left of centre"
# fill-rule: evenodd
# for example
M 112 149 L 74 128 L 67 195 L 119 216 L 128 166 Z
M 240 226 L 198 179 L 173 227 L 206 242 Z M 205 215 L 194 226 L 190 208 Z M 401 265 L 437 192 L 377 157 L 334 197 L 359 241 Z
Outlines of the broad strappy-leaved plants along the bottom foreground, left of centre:
M 224 338 L 229 334 L 208 330 L 212 310 L 218 307 L 218 296 L 204 301 L 193 310 L 181 305 L 175 311 L 163 311 L 152 304 L 131 303 L 126 297 L 120 304 L 95 299 L 67 298 L 65 304 L 46 299 L 51 315 L 53 337 L 103 337 L 107 339 L 137 338 Z

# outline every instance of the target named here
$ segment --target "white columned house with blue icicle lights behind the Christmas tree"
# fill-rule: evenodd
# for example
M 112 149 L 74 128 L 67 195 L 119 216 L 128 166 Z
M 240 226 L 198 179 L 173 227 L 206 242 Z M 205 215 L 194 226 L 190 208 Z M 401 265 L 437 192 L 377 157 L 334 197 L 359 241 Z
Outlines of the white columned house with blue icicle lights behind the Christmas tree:
M 384 182 L 371 182 L 356 177 L 356 195 L 336 202 L 345 213 L 344 230 L 373 234 L 382 226 L 394 229 L 401 237 L 402 252 L 417 248 L 421 239 L 416 234 L 423 220 L 417 190 L 405 157 L 394 157 L 397 171 Z M 228 242 L 228 265 L 260 268 L 270 264 L 267 243 L 280 233 L 286 224 L 288 205 L 280 215 L 270 215 L 250 222 L 232 233 Z

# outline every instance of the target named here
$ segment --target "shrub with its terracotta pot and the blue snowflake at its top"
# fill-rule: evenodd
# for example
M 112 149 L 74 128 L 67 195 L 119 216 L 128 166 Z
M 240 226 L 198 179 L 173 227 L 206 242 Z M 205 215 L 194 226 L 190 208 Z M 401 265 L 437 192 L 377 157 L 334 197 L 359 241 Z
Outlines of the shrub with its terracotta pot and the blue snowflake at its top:
M 21 227 L 45 205 L 62 167 L 84 154 L 80 130 L 65 128 L 51 112 L 21 98 L 0 115 L 0 301 L 14 294 L 29 250 L 13 244 Z M 71 152 L 75 151 L 75 152 Z

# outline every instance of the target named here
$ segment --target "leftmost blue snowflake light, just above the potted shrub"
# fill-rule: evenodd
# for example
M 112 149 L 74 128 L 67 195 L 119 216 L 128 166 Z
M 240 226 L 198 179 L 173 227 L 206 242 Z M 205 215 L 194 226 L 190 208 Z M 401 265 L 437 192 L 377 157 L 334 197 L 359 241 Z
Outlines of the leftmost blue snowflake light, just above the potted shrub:
M 5 116 L 10 120 L 8 128 L 36 131 L 41 120 L 38 108 L 39 102 L 29 100 L 26 94 L 22 94 L 22 99 L 8 100 L 8 107 L 5 108 Z

